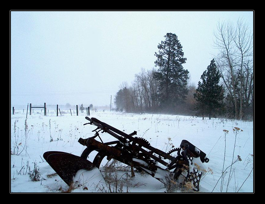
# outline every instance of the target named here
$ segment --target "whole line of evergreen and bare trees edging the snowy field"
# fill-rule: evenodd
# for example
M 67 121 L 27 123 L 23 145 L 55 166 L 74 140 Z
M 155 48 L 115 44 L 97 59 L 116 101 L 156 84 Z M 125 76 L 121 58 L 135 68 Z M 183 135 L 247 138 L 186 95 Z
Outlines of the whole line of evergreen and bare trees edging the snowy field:
M 187 59 L 177 35 L 167 33 L 155 52 L 156 68 L 142 68 L 130 86 L 121 84 L 117 110 L 252 119 L 253 34 L 242 19 L 235 26 L 219 22 L 214 46 L 214 59 L 196 86 L 182 66 Z

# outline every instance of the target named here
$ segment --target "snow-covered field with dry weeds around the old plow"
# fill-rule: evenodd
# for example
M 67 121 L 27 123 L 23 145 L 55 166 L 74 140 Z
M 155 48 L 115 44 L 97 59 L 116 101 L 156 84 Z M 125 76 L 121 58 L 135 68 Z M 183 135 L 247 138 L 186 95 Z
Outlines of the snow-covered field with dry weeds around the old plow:
M 43 159 L 46 151 L 64 151 L 80 156 L 84 146 L 78 143 L 79 138 L 88 138 L 94 135 L 95 126 L 83 125 L 88 121 L 85 114 L 79 116 L 43 116 L 11 115 L 10 120 L 10 192 L 11 193 L 61 193 L 68 189 L 66 183 L 54 174 L 55 171 Z M 91 112 L 90 117 L 99 120 L 128 134 L 137 131 L 137 137 L 145 138 L 153 147 L 168 152 L 171 147 L 179 147 L 182 140 L 187 140 L 210 159 L 204 163 L 205 173 L 200 181 L 200 192 L 203 193 L 253 193 L 253 121 L 235 121 L 221 118 L 196 118 L 180 115 L 160 114 L 127 114 L 116 112 Z M 235 129 L 236 127 L 236 129 Z M 237 131 L 237 128 L 240 130 Z M 233 130 L 234 129 L 234 130 Z M 26 130 L 26 131 L 25 131 Z M 226 132 L 226 131 L 229 132 Z M 243 131 L 241 131 L 243 130 Z M 237 134 L 237 136 L 236 136 Z M 113 141 L 111 135 L 101 134 L 104 142 Z M 235 141 L 236 138 L 236 141 Z M 51 141 L 51 139 L 53 141 Z M 235 147 L 235 148 L 234 148 Z M 234 158 L 233 158 L 234 151 Z M 225 152 L 225 160 L 224 160 Z M 240 156 L 241 161 L 236 161 Z M 92 155 L 93 157 L 93 155 Z M 93 161 L 90 157 L 89 160 Z M 231 170 L 230 165 L 236 161 Z M 104 160 L 104 164 L 107 160 Z M 31 181 L 30 174 L 38 170 L 39 181 Z M 228 167 L 228 168 L 227 168 Z M 84 172 L 83 185 L 71 192 L 108 192 L 122 191 L 131 193 L 164 193 L 167 192 L 163 183 L 152 176 L 124 171 L 104 173 L 103 176 L 115 178 L 123 182 L 115 189 L 115 184 L 104 186 L 104 180 L 99 171 Z M 224 169 L 224 181 L 221 175 Z M 230 174 L 230 181 L 227 182 Z M 33 174 L 31 174 L 33 176 Z M 219 180 L 220 179 L 220 180 Z M 219 181 L 218 181 L 219 180 Z M 100 185 L 98 185 L 100 183 Z M 243 184 L 243 186 L 242 186 Z M 178 189 L 177 193 L 183 192 Z

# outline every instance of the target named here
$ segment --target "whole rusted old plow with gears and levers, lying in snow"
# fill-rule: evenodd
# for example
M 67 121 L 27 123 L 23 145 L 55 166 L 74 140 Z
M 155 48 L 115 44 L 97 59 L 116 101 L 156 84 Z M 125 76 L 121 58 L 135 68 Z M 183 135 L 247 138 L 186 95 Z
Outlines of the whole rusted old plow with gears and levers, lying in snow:
M 182 182 L 191 182 L 193 190 L 199 191 L 199 182 L 203 174 L 200 165 L 208 162 L 209 159 L 203 151 L 187 140 L 182 140 L 180 147 L 166 153 L 152 147 L 144 138 L 135 137 L 136 131 L 126 134 L 96 118 L 85 118 L 89 122 L 84 125 L 95 125 L 96 129 L 93 130 L 95 132 L 93 137 L 78 140 L 80 144 L 86 146 L 81 157 L 58 151 L 48 151 L 43 154 L 48 164 L 69 186 L 78 170 L 89 171 L 99 168 L 106 157 L 107 160 L 115 159 L 131 166 L 132 176 L 136 169 L 150 174 L 162 183 L 165 183 L 169 176 L 175 181 L 181 177 Z M 99 135 L 104 132 L 116 140 L 104 143 Z M 95 139 L 97 137 L 99 141 Z M 92 151 L 98 152 L 93 162 L 88 160 Z

